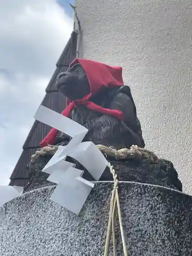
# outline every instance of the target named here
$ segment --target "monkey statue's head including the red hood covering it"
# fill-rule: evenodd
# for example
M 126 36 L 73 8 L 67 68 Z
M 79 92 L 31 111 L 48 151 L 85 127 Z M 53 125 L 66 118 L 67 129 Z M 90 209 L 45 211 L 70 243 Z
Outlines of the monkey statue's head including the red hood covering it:
M 122 68 L 104 63 L 75 59 L 66 72 L 57 77 L 56 87 L 69 101 L 89 100 L 103 88 L 123 86 Z

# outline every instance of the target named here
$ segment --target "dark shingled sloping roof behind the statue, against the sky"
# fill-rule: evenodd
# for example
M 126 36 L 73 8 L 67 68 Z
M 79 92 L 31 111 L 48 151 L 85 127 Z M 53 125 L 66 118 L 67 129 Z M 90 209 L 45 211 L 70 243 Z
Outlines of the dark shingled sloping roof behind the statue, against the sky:
M 65 49 L 56 63 L 56 70 L 46 88 L 46 95 L 41 103 L 42 105 L 47 106 L 47 108 L 58 113 L 61 113 L 62 110 L 66 108 L 66 98 L 63 96 L 63 94 L 56 90 L 56 78 L 60 72 L 66 71 L 70 63 L 75 59 L 76 47 L 77 33 L 73 31 Z M 39 121 L 34 122 L 23 145 L 23 152 L 20 155 L 13 173 L 11 174 L 10 185 L 26 186 L 26 184 L 29 182 L 27 164 L 30 162 L 31 155 L 33 155 L 39 148 L 40 141 L 47 135 L 50 129 L 51 127 L 44 123 Z

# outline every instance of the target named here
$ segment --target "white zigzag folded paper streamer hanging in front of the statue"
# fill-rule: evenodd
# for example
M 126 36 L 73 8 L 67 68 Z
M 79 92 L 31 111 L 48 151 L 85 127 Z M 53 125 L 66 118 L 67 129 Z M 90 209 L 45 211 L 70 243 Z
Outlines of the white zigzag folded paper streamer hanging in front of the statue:
M 77 160 L 96 181 L 101 177 L 108 162 L 93 142 L 82 142 L 88 130 L 77 122 L 42 105 L 35 119 L 72 137 L 67 146 L 59 146 L 42 172 L 50 174 L 48 180 L 57 184 L 51 200 L 78 215 L 94 183 L 83 179 L 83 171 L 67 162 L 66 157 Z

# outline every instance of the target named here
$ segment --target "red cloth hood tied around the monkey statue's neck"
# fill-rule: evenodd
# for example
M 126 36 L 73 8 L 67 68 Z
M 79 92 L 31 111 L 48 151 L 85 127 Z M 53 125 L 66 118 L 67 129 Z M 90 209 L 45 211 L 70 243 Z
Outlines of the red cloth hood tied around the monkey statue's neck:
M 103 86 L 109 88 L 123 86 L 122 68 L 109 66 L 93 60 L 79 58 L 75 59 L 69 67 L 74 66 L 76 63 L 79 63 L 86 72 L 91 92 L 82 99 L 74 100 L 72 102 L 67 99 L 67 108 L 63 110 L 61 115 L 68 117 L 76 106 L 83 104 L 86 105 L 90 110 L 116 117 L 119 120 L 124 120 L 124 114 L 121 111 L 104 109 L 92 101 L 89 101 L 89 99 L 96 95 Z M 44 147 L 48 144 L 54 144 L 57 132 L 58 131 L 55 128 L 52 128 L 45 139 L 41 141 L 40 146 Z

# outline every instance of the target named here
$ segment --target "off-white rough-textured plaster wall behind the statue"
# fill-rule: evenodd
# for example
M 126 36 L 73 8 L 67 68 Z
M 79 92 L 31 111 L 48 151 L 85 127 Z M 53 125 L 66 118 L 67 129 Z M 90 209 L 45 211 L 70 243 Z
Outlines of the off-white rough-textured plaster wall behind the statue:
M 82 56 L 123 67 L 146 147 L 192 194 L 191 0 L 76 0 Z

